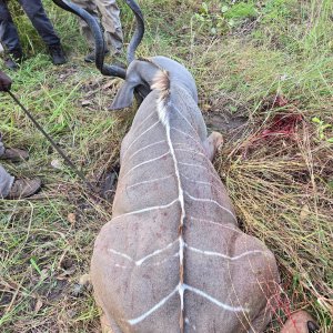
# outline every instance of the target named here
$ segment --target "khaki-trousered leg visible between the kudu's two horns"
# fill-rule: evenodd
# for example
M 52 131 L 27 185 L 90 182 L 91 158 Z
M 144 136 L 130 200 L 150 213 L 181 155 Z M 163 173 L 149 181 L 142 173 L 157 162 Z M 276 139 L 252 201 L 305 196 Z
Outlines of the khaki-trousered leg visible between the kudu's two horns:
M 119 7 L 115 0 L 95 0 L 95 4 L 102 16 L 107 46 L 111 46 L 114 54 L 119 54 L 123 43 Z

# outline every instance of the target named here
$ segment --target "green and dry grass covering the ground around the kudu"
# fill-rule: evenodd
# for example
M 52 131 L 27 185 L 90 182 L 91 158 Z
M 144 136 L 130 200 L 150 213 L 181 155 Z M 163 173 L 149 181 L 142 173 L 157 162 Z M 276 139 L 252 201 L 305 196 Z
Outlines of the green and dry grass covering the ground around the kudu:
M 132 17 L 121 6 L 129 37 Z M 138 54 L 172 54 L 192 71 L 208 124 L 225 134 L 215 167 L 242 229 L 263 240 L 279 262 L 284 302 L 268 332 L 279 332 L 280 320 L 297 309 L 310 311 L 321 332 L 331 332 L 333 132 L 323 127 L 333 124 L 332 1 L 141 6 L 148 31 Z M 50 1 L 46 8 L 70 61 L 51 65 L 29 21 L 18 17 L 29 59 L 10 73 L 12 91 L 98 183 L 118 163 L 133 112 L 107 110 L 119 81 L 84 65 L 88 48 L 75 19 Z M 274 104 L 281 97 L 286 102 Z M 28 148 L 31 155 L 6 168 L 44 183 L 31 200 L 0 201 L 1 331 L 98 332 L 92 292 L 78 283 L 89 270 L 97 233 L 111 218 L 111 203 L 92 196 L 63 163 L 52 168 L 61 159 L 10 98 L 0 98 L 6 143 Z M 291 114 L 301 117 L 291 135 L 263 135 L 276 117 Z M 225 131 L 226 115 L 246 122 Z

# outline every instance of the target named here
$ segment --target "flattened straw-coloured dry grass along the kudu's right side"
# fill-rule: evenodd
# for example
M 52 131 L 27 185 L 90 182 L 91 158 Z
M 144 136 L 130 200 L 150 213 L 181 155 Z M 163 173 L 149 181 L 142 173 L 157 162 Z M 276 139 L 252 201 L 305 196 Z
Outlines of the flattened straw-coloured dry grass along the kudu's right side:
M 289 302 L 278 319 L 305 309 L 320 321 L 333 315 L 333 151 L 311 142 L 303 122 L 293 140 L 255 144 L 251 137 L 229 142 L 216 167 L 225 180 L 243 230 L 265 242 L 279 263 Z M 329 157 L 329 159 L 327 159 Z M 279 320 L 276 320 L 279 322 Z M 329 332 L 329 327 L 323 332 Z

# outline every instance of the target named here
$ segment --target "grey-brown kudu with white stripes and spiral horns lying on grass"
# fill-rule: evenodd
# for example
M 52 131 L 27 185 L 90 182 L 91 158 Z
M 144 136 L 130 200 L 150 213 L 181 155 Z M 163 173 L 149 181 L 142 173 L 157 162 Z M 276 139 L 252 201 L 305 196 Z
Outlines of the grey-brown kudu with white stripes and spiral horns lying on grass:
M 113 333 L 262 332 L 279 290 L 276 262 L 238 226 L 211 163 L 222 137 L 206 138 L 192 75 L 164 57 L 133 60 L 144 28 L 135 2 L 127 1 L 138 21 L 127 71 L 103 64 L 102 33 L 89 14 L 54 2 L 91 27 L 101 72 L 125 78 L 112 108 L 130 105 L 134 92 L 143 99 L 122 141 L 112 220 L 91 263 L 107 326 Z

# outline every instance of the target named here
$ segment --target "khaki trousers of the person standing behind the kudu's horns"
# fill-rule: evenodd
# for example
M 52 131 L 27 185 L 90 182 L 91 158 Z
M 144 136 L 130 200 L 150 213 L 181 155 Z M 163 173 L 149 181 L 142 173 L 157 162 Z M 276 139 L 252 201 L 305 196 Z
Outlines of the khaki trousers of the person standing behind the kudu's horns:
M 114 53 L 120 53 L 122 49 L 122 30 L 119 18 L 120 10 L 115 0 L 72 0 L 73 3 L 85 9 L 90 14 L 99 19 L 101 14 L 101 23 L 104 29 L 104 38 L 108 48 L 112 48 Z M 87 38 L 90 47 L 93 49 L 94 39 L 87 23 L 80 19 L 81 33 Z

